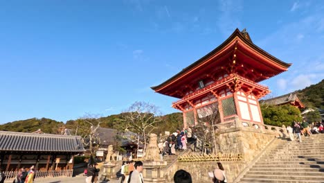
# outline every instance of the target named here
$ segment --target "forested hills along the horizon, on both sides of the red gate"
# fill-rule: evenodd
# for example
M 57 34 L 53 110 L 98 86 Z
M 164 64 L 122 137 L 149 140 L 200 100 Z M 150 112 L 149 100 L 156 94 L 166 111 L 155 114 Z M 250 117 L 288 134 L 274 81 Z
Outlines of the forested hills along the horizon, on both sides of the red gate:
M 310 85 L 305 89 L 300 89 L 296 91 L 300 99 L 307 107 L 317 107 L 324 109 L 324 80 L 318 82 L 316 85 Z M 120 121 L 123 118 L 122 114 L 114 114 L 111 116 L 100 117 L 94 119 L 93 123 L 98 123 L 100 121 L 100 126 L 103 128 L 115 128 L 116 122 Z M 166 114 L 161 116 L 162 121 L 156 123 L 156 129 L 153 130 L 154 133 L 159 134 L 164 131 L 174 132 L 177 129 L 181 129 L 183 126 L 183 116 L 181 112 L 176 112 L 172 114 Z M 275 123 L 276 120 L 271 120 L 271 123 Z M 277 122 L 276 122 L 277 123 Z M 275 125 L 275 124 L 272 124 Z M 35 132 L 38 129 L 41 129 L 42 132 L 51 133 L 51 134 L 60 134 L 62 128 L 66 127 L 72 129 L 73 131 L 79 129 L 80 126 L 89 127 L 89 123 L 85 122 L 84 119 L 75 119 L 66 121 L 66 124 L 63 122 L 55 121 L 53 119 L 26 119 L 20 121 L 13 121 L 11 123 L 6 123 L 0 125 L 0 130 L 3 131 L 12 131 L 12 132 Z

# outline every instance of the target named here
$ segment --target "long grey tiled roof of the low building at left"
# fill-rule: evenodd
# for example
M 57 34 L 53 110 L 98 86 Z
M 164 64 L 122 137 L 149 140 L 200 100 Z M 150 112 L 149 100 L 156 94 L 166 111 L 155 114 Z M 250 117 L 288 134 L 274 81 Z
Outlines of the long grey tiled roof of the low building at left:
M 79 136 L 0 131 L 0 151 L 80 153 L 84 148 Z

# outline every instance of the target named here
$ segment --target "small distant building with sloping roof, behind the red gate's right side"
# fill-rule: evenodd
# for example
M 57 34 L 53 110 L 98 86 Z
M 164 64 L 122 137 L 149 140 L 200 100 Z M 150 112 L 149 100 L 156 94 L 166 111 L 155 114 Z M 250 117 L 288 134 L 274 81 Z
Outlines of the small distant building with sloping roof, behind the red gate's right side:
M 269 104 L 269 105 L 290 104 L 290 105 L 294 105 L 295 107 L 298 107 L 299 109 L 305 108 L 305 105 L 303 104 L 302 101 L 300 101 L 297 94 L 295 94 L 295 93 L 285 94 L 285 95 L 277 96 L 275 98 L 270 98 L 267 100 L 261 100 L 260 103 L 261 104 Z

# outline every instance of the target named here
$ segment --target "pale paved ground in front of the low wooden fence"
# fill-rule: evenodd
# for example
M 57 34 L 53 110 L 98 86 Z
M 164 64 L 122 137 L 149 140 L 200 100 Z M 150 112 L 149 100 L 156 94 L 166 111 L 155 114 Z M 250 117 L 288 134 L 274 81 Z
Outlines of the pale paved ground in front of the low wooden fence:
M 85 182 L 85 177 L 62 177 L 62 178 L 40 178 L 35 180 L 34 183 L 82 183 Z M 111 181 L 98 181 L 98 183 L 119 183 L 120 180 L 111 180 Z

